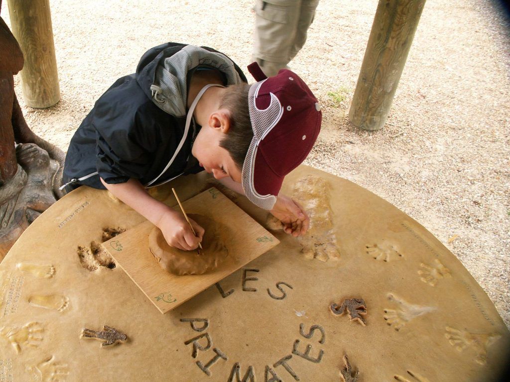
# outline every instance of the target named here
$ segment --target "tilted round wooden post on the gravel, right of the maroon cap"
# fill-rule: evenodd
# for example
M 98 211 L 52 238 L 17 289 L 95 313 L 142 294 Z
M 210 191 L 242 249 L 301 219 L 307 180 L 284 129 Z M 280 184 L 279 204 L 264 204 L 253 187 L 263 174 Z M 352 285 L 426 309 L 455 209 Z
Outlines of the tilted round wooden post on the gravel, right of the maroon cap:
M 349 109 L 357 127 L 385 125 L 425 0 L 379 0 Z

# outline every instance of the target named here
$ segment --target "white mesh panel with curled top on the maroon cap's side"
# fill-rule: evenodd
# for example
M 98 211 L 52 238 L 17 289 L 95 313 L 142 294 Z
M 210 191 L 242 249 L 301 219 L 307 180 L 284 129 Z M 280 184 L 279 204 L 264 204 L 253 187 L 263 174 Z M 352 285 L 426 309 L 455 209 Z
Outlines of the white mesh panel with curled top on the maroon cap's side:
M 251 127 L 253 129 L 253 139 L 251 140 L 248 152 L 244 159 L 241 184 L 243 186 L 244 194 L 251 203 L 259 206 L 260 208 L 270 210 L 273 208 L 274 203 L 276 203 L 276 195 L 260 195 L 257 192 L 253 184 L 253 171 L 259 143 L 282 118 L 284 109 L 278 98 L 273 93 L 270 93 L 271 103 L 265 110 L 260 110 L 257 107 L 255 99 L 257 98 L 259 89 L 264 81 L 266 81 L 266 79 L 251 85 L 248 94 L 248 109 L 250 113 Z M 263 174 L 258 174 L 258 176 L 263 176 Z

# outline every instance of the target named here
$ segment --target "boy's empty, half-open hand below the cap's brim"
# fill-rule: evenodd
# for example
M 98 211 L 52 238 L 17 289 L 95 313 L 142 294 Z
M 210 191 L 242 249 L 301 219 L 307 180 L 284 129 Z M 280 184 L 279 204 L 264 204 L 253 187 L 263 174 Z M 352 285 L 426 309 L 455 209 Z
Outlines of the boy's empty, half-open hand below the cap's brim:
M 303 208 L 291 198 L 278 195 L 271 214 L 283 223 L 284 231 L 294 237 L 304 235 L 310 225 L 310 218 Z

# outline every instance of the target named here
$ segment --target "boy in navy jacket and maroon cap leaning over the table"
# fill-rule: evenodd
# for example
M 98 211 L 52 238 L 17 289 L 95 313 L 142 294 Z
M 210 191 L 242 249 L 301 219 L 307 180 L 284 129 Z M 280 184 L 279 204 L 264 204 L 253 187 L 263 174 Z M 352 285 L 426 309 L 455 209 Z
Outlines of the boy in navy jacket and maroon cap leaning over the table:
M 119 78 L 95 103 L 67 151 L 62 188 L 107 188 L 161 229 L 168 244 L 193 250 L 203 229 L 151 198 L 145 188 L 206 170 L 270 210 L 285 232 L 304 234 L 309 218 L 278 195 L 283 179 L 312 149 L 320 106 L 294 73 L 247 85 L 224 54 L 167 43 L 149 49 L 135 74 Z

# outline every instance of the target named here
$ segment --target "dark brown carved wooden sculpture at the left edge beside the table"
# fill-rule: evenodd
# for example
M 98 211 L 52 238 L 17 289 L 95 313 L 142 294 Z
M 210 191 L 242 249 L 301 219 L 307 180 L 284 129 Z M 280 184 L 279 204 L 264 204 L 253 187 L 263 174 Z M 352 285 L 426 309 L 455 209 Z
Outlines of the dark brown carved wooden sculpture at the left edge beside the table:
M 13 79 L 22 67 L 21 49 L 0 18 L 0 261 L 34 219 L 62 196 L 58 186 L 65 153 L 25 122 Z

